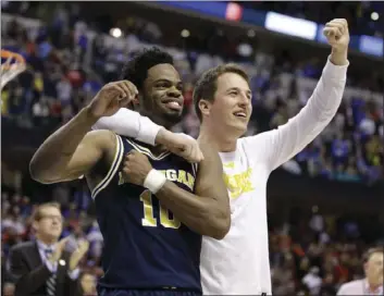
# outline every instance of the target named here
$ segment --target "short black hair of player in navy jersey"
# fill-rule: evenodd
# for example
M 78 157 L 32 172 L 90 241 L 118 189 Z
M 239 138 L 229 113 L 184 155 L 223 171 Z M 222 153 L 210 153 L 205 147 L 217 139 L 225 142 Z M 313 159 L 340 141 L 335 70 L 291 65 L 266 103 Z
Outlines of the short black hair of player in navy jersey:
M 135 54 L 123 67 L 121 79 L 132 82 L 137 89 L 143 89 L 148 70 L 158 64 L 172 64 L 173 58 L 158 47 L 144 49 Z

